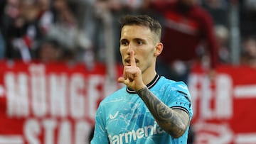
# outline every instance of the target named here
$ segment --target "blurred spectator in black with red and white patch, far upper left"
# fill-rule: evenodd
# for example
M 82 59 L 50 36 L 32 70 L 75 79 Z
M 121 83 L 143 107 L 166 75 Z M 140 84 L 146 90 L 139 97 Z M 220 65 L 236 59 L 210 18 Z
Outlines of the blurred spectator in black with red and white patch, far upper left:
M 35 1 L 9 0 L 4 13 L 6 57 L 29 62 L 41 31 L 38 28 L 39 8 Z

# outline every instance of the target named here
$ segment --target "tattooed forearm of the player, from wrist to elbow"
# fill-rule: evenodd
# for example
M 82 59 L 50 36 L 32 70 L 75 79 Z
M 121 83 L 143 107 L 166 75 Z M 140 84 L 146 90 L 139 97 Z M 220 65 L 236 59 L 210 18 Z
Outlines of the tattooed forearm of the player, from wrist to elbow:
M 139 89 L 137 94 L 146 104 L 156 122 L 174 138 L 178 138 L 186 131 L 189 124 L 188 113 L 180 109 L 171 109 L 152 94 L 147 87 Z

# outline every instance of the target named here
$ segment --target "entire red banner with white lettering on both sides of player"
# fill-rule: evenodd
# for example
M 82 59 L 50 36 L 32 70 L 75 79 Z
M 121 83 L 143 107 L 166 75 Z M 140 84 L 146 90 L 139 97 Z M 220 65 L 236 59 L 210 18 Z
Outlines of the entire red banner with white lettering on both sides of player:
M 89 143 L 97 105 L 119 87 L 101 64 L 1 61 L 0 144 Z M 196 144 L 256 143 L 256 69 L 221 66 L 210 81 L 195 67 L 188 87 Z

